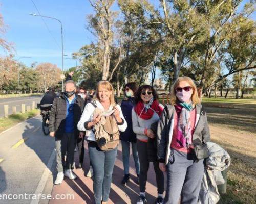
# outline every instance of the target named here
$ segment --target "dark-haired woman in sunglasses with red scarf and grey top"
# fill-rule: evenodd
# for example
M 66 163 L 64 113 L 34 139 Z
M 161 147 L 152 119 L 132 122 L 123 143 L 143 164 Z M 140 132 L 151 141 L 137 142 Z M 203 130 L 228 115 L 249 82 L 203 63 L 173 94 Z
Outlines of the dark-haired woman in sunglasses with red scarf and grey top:
M 135 107 L 132 110 L 133 131 L 137 135 L 137 149 L 140 161 L 140 197 L 137 204 L 143 204 L 147 181 L 147 171 L 153 162 L 156 173 L 158 197 L 155 203 L 163 203 L 164 176 L 157 161 L 156 135 L 152 129 L 157 124 L 163 111 L 163 106 L 157 101 L 158 95 L 150 85 L 140 86 L 135 94 Z

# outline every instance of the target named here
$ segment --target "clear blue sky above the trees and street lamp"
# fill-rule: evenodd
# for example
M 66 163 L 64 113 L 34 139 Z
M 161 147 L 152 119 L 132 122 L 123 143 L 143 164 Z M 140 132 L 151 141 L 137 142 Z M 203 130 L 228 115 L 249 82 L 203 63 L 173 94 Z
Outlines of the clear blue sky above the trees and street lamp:
M 72 53 L 94 40 L 94 36 L 86 29 L 86 16 L 93 13 L 88 0 L 0 0 L 0 13 L 8 25 L 4 38 L 14 43 L 15 59 L 27 66 L 36 61 L 51 62 L 61 68 L 60 23 L 44 18 L 49 32 L 41 17 L 29 15 L 38 14 L 33 2 L 41 15 L 54 17 L 62 22 L 63 52 L 68 55 L 67 58 L 72 58 Z M 151 2 L 156 4 L 156 0 Z M 240 8 L 245 2 L 248 1 L 244 0 Z M 117 5 L 113 9 L 118 10 Z M 3 54 L 0 50 L 0 55 Z M 64 70 L 75 65 L 75 60 L 64 59 Z

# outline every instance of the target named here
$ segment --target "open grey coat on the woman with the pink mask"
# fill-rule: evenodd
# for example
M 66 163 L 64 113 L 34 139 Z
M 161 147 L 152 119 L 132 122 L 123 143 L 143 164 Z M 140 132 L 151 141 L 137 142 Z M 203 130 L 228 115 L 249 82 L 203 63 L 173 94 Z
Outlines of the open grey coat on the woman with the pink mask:
M 157 127 L 157 156 L 159 162 L 167 165 L 170 156 L 170 143 L 173 138 L 175 107 L 166 105 Z M 210 131 L 206 112 L 201 104 L 196 105 L 196 123 L 193 144 L 200 145 L 210 141 Z

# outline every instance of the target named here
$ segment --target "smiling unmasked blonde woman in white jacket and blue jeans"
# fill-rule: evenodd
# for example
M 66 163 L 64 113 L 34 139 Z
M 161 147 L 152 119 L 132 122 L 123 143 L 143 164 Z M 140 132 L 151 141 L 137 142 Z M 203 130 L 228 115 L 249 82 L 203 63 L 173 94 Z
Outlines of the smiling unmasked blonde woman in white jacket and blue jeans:
M 101 121 L 100 114 L 94 114 L 98 108 L 102 111 L 113 111 L 118 130 L 124 132 L 127 123 L 123 117 L 121 107 L 115 103 L 114 89 L 110 82 L 100 81 L 91 103 L 83 110 L 78 129 L 88 131 L 89 156 L 93 167 L 93 191 L 96 204 L 106 203 L 109 199 L 113 168 L 117 155 L 117 147 L 112 150 L 101 150 L 95 139 L 95 125 Z

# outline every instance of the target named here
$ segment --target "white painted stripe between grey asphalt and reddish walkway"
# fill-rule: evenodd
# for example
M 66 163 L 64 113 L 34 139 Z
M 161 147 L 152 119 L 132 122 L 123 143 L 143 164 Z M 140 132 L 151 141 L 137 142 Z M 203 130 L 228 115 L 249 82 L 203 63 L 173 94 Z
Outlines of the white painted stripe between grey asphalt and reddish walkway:
M 38 204 L 39 203 L 40 195 L 42 194 L 42 191 L 44 191 L 44 188 L 45 188 L 45 185 L 46 185 L 49 173 L 51 172 L 50 169 L 52 168 L 52 164 L 53 164 L 54 159 L 55 159 L 55 155 L 56 155 L 56 151 L 55 151 L 55 149 L 53 149 L 52 154 L 50 156 L 50 159 L 49 159 L 49 161 L 47 163 L 47 166 L 45 168 L 45 171 L 42 174 L 41 180 L 40 180 L 40 182 L 39 182 L 39 184 L 38 184 L 38 186 L 37 186 L 37 188 L 35 190 L 35 193 L 34 193 L 34 195 L 36 195 L 36 197 L 38 199 L 32 200 L 30 202 L 30 204 Z

